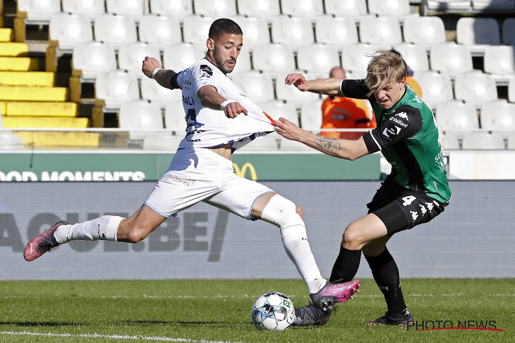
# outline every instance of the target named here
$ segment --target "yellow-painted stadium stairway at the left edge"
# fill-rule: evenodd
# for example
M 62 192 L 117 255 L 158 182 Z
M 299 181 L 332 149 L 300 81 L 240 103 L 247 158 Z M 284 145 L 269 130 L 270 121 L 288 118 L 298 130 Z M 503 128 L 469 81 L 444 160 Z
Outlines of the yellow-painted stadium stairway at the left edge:
M 90 119 L 78 117 L 69 90 L 56 87 L 56 73 L 41 71 L 25 43 L 13 42 L 8 27 L 0 27 L 0 113 L 4 128 L 12 128 L 25 147 L 98 147 L 92 132 L 23 131 L 16 128 L 89 128 Z

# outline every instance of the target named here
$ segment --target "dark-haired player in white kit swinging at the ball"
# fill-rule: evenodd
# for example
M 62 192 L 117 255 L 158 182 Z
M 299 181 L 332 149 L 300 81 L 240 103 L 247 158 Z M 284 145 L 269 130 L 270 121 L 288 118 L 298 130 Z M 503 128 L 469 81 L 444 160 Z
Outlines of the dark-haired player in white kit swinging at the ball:
M 104 215 L 78 224 L 58 222 L 37 235 L 23 256 L 32 261 L 54 246 L 71 240 L 126 241 L 147 237 L 170 216 L 197 202 L 207 202 L 248 220 L 264 220 L 280 228 L 286 254 L 322 310 L 345 303 L 360 281 L 330 283 L 323 279 L 306 236 L 304 213 L 290 200 L 258 182 L 237 176 L 231 154 L 255 137 L 274 131 L 274 121 L 227 78 L 242 47 L 242 31 L 230 19 L 209 29 L 207 55 L 176 73 L 146 57 L 142 71 L 166 88 L 181 88 L 186 136 L 170 167 L 148 199 L 130 217 Z

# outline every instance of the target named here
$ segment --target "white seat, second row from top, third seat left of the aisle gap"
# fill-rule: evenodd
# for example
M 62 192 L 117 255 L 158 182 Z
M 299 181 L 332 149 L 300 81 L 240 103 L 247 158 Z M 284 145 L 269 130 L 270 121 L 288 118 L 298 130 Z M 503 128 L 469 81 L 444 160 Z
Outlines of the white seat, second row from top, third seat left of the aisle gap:
M 347 45 L 358 43 L 358 29 L 352 18 L 323 16 L 314 23 L 317 43 Z

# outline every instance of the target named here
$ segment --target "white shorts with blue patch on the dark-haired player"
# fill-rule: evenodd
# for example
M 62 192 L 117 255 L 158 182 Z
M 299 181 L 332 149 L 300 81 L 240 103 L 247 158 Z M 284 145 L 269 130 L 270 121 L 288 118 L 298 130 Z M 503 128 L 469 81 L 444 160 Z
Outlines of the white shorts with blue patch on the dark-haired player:
M 207 202 L 252 220 L 252 206 L 272 190 L 234 173 L 232 161 L 205 148 L 177 150 L 168 171 L 157 181 L 145 204 L 165 218 Z

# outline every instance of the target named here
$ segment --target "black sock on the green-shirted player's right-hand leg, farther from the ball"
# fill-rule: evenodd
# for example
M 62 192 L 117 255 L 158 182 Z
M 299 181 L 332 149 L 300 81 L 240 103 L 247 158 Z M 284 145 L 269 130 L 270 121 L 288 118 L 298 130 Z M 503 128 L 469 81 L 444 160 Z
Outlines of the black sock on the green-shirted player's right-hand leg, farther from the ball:
M 399 269 L 396 261 L 393 261 L 393 257 L 386 247 L 378 256 L 365 255 L 365 258 L 372 270 L 374 280 L 385 296 L 390 315 L 402 317 L 407 307 L 400 289 Z

